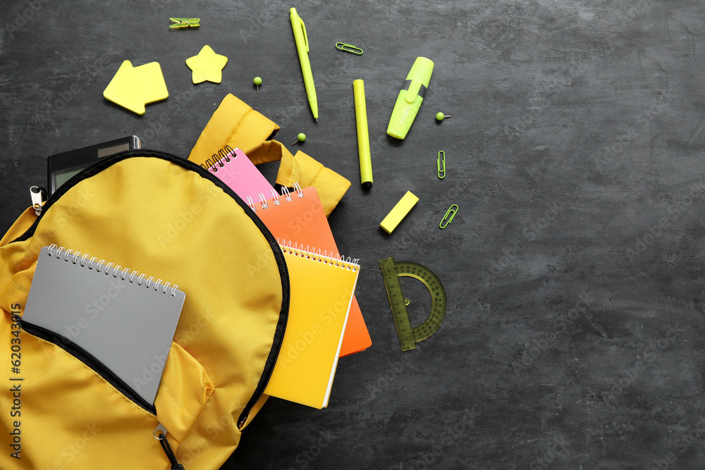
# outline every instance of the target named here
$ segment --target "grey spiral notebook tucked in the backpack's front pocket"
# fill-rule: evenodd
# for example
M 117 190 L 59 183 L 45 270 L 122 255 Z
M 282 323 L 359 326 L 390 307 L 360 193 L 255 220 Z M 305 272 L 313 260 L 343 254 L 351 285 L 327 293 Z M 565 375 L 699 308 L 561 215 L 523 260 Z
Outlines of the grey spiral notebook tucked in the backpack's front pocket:
M 185 299 L 159 281 L 43 247 L 22 321 L 71 340 L 153 404 Z

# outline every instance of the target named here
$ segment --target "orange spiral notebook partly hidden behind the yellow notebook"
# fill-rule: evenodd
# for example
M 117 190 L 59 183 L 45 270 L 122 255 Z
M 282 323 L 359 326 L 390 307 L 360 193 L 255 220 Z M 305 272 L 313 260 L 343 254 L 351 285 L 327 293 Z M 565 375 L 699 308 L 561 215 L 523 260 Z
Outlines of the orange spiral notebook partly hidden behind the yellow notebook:
M 338 256 L 338 246 L 315 187 L 301 189 L 295 184 L 293 192 L 284 187 L 281 196 L 267 199 L 264 204 L 251 204 L 251 207 L 279 240 L 287 240 L 304 248 L 316 247 L 328 252 L 329 256 Z M 353 296 L 341 357 L 365 350 L 370 345 L 372 340 L 357 299 Z

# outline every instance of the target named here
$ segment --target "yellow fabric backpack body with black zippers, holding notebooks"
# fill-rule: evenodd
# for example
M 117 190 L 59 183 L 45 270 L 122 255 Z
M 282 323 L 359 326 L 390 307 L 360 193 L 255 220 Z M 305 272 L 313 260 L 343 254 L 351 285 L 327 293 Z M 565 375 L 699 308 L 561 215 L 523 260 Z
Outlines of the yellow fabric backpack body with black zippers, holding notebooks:
M 154 406 L 70 341 L 21 328 L 52 244 L 185 292 Z M 288 296 L 276 240 L 214 175 L 149 150 L 95 163 L 0 240 L 0 468 L 218 469 L 266 399 Z

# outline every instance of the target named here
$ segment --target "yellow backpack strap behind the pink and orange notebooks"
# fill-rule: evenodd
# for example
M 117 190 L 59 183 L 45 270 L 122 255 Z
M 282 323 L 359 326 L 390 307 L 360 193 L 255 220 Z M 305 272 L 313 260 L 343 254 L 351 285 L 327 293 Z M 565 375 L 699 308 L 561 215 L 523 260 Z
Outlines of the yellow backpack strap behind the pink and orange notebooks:
M 255 165 L 280 161 L 276 183 L 286 187 L 292 187 L 294 183 L 301 187 L 316 187 L 326 216 L 329 216 L 350 187 L 350 181 L 302 151 L 292 155 L 281 142 L 271 140 L 278 130 L 279 126 L 269 118 L 233 94 L 227 94 L 201 132 L 188 159 L 203 164 L 219 149 L 229 145 L 244 151 Z

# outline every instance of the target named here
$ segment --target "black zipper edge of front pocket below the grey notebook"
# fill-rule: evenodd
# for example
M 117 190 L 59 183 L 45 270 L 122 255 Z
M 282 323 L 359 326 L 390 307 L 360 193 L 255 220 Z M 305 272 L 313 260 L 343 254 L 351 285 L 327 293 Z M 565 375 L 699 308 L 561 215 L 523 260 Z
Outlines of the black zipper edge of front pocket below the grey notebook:
M 142 398 L 142 396 L 135 392 L 135 390 L 130 387 L 130 385 L 125 383 L 123 379 L 121 379 L 116 375 L 116 373 L 111 371 L 108 366 L 103 364 L 102 361 L 97 359 L 90 352 L 87 352 L 85 349 L 77 345 L 75 342 L 62 335 L 59 335 L 58 333 L 54 333 L 54 331 L 47 330 L 47 328 L 35 325 L 33 323 L 29 323 L 21 319 L 20 327 L 25 331 L 25 333 L 34 335 L 37 338 L 42 338 L 42 340 L 49 341 L 52 344 L 61 347 L 62 350 L 68 352 L 68 354 L 71 354 L 83 364 L 93 369 L 95 373 L 104 378 L 110 385 L 113 385 L 119 392 L 125 395 L 125 397 L 128 397 L 130 400 L 140 405 L 140 407 L 147 410 L 147 412 L 154 414 L 154 416 L 157 416 L 157 409 L 154 407 L 154 404 L 149 403 L 147 400 Z

